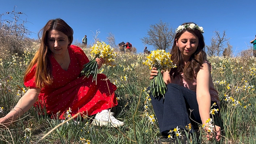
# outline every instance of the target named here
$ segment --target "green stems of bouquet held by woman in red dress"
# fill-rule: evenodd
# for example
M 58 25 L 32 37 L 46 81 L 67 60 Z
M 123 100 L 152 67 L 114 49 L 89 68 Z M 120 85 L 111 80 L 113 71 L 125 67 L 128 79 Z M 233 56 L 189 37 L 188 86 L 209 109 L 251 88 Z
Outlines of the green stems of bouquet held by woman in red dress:
M 96 80 L 96 84 L 97 84 L 97 74 L 98 74 L 97 72 L 98 72 L 99 65 L 96 61 L 96 57 L 90 62 L 88 62 L 87 64 L 85 64 L 83 67 L 84 68 L 81 71 L 81 75 L 85 75 L 85 77 L 87 78 L 89 78 L 89 76 L 92 75 L 93 80 Z

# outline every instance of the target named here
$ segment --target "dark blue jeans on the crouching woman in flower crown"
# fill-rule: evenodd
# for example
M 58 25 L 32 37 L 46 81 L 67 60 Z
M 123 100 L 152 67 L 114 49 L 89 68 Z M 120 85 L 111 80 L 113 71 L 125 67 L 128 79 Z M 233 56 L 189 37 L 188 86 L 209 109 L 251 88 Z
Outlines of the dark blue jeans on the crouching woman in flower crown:
M 189 123 L 192 124 L 192 131 L 190 132 L 194 132 L 193 126 L 197 126 L 196 122 L 202 123 L 196 92 L 178 84 L 170 83 L 167 84 L 165 99 L 163 99 L 163 96 L 153 97 L 150 95 L 150 97 L 162 134 L 167 134 L 177 126 L 185 129 L 185 126 L 188 126 Z

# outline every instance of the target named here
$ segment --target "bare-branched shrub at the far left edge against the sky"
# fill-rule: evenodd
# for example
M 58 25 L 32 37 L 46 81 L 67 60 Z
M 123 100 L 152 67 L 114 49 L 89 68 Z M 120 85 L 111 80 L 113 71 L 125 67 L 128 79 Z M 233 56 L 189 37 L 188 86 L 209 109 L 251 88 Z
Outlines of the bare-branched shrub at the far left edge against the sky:
M 0 57 L 5 58 L 15 53 L 21 56 L 26 48 L 30 48 L 33 40 L 28 37 L 32 32 L 25 27 L 21 15 L 22 12 L 12 12 L 0 14 Z

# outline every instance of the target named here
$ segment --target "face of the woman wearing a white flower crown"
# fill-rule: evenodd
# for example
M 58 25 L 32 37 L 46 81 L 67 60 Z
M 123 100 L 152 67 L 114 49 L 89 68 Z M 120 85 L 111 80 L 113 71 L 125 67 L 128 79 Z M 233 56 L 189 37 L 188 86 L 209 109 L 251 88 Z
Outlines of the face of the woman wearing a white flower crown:
M 180 52 L 182 53 L 184 61 L 187 62 L 191 55 L 196 51 L 199 40 L 197 36 L 188 31 L 185 31 L 178 40 L 175 39 L 175 42 L 177 47 L 179 47 Z

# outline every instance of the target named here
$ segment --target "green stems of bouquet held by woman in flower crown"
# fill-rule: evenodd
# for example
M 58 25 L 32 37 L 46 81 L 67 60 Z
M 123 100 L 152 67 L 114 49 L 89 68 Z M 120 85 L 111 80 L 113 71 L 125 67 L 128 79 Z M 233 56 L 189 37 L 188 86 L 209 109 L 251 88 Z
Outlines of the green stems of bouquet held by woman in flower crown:
M 163 77 L 161 75 L 161 69 L 157 69 L 158 75 L 154 76 L 154 78 L 150 82 L 150 94 L 155 96 L 163 96 L 165 98 L 165 93 L 167 91 L 167 87 L 165 82 L 163 81 Z

